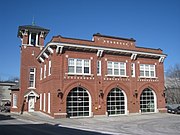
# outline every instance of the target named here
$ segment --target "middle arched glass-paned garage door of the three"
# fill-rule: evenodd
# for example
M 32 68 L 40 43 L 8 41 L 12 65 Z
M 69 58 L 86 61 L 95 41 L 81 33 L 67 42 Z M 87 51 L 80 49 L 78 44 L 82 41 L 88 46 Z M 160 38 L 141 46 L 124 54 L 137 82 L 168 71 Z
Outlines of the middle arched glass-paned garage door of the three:
M 119 88 L 113 88 L 107 96 L 108 115 L 125 114 L 125 95 Z

